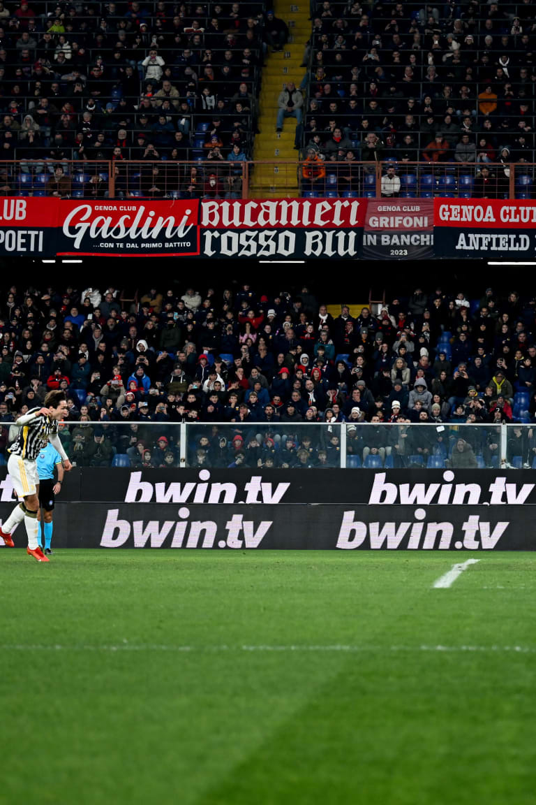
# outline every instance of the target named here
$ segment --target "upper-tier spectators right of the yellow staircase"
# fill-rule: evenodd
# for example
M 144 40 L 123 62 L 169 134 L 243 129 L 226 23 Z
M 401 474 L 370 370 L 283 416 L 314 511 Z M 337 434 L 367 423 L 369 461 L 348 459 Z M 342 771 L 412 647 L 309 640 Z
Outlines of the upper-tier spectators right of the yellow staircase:
M 534 162 L 535 35 L 530 0 L 320 0 L 302 82 L 304 158 L 392 159 L 400 175 L 408 163 L 433 173 L 451 162 L 477 176 L 474 196 L 503 197 L 509 166 Z M 342 169 L 339 191 L 367 189 L 357 167 Z

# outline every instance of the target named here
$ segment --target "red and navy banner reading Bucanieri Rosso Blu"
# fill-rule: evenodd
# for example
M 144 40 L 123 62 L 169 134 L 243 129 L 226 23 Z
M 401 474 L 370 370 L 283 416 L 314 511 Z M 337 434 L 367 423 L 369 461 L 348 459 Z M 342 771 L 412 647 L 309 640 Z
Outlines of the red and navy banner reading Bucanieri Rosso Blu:
M 366 200 L 276 199 L 201 204 L 201 253 L 217 258 L 358 258 Z

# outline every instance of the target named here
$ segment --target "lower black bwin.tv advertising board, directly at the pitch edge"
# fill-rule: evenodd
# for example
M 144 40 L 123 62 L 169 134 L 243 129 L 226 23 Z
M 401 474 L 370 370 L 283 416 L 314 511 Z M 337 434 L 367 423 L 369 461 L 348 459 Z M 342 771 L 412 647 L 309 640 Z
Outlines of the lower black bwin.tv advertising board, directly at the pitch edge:
M 6 517 L 5 504 L 0 506 Z M 534 551 L 523 506 L 58 503 L 55 547 Z M 15 545 L 26 545 L 23 527 Z M 9 550 L 9 549 L 6 549 Z

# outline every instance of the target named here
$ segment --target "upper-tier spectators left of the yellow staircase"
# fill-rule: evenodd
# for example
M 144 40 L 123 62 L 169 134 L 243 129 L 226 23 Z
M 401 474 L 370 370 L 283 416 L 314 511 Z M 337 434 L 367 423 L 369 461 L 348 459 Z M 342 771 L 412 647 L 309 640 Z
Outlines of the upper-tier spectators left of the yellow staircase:
M 0 148 L 3 160 L 23 160 L 20 170 L 33 177 L 33 195 L 50 192 L 47 180 L 58 165 L 67 178 L 91 161 L 113 162 L 118 183 L 125 184 L 127 160 L 197 159 L 203 184 L 209 173 L 202 161 L 218 176 L 228 161 L 251 158 L 271 39 L 264 2 L 20 0 L 0 6 Z M 104 166 L 92 173 L 93 184 L 100 175 L 104 195 Z M 18 189 L 32 192 L 31 179 L 4 168 L 4 194 L 15 177 Z M 188 193 L 190 179 L 174 167 L 168 188 Z M 63 185 L 71 188 L 71 182 Z M 152 185 L 133 187 L 149 191 Z

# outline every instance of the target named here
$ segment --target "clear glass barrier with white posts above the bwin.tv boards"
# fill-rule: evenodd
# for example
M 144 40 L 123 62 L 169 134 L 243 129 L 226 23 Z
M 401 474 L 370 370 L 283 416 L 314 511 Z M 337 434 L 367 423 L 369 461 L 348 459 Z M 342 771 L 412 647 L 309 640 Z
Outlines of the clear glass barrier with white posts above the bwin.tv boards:
M 17 431 L 0 423 L 2 444 Z M 119 420 L 61 423 L 59 434 L 82 467 L 536 469 L 531 424 Z M 3 447 L 0 465 L 8 457 Z

